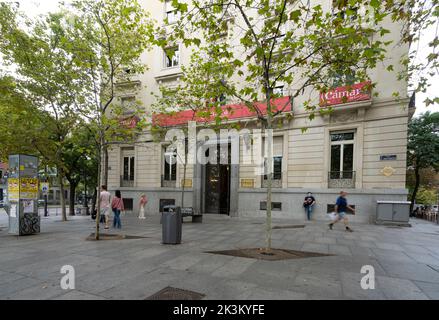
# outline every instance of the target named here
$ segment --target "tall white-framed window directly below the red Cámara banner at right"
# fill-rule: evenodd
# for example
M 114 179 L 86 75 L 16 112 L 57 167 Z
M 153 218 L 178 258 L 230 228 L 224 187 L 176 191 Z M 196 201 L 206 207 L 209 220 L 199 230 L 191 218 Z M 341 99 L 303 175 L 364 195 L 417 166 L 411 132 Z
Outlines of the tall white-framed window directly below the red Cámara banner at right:
M 331 179 L 354 177 L 354 132 L 331 134 Z

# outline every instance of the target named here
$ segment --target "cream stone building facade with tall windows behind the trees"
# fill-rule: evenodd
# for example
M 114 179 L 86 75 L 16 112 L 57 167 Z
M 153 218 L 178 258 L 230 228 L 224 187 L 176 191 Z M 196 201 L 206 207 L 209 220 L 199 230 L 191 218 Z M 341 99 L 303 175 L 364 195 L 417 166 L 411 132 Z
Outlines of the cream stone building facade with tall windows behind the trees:
M 156 19 L 178 19 L 169 2 L 142 3 Z M 322 3 L 330 5 L 329 1 Z M 402 26 L 387 20 L 383 23 L 391 31 L 387 37 L 397 43 Z M 160 48 L 145 52 L 142 59 L 149 70 L 135 76 L 131 89 L 119 97 L 120 102 L 141 100 L 148 114 L 148 106 L 154 102 L 149 92 L 157 93 L 160 85 L 178 81 L 181 65 L 189 61 L 189 48 L 177 45 L 175 49 L 172 59 Z M 397 80 L 399 59 L 407 52 L 407 47 L 395 44 L 385 62 L 370 70 L 370 79 L 377 84 L 373 92 L 365 95 L 357 90 L 364 84 L 355 84 L 327 93 L 324 98 L 334 108 L 330 115 L 317 114 L 309 120 L 303 101 L 310 95 L 318 100 L 319 93 L 306 92 L 292 101 L 293 117 L 285 118 L 274 133 L 274 217 L 304 218 L 302 203 L 307 192 L 317 199 L 316 219 L 326 218 L 342 189 L 356 207 L 353 221 L 373 221 L 377 200 L 406 200 L 407 123 L 414 106 L 409 106 L 408 98 L 395 99 L 393 93 L 407 97 L 407 84 Z M 386 70 L 389 64 L 395 66 L 393 72 Z M 279 90 L 288 95 L 289 88 Z M 340 99 L 342 95 L 348 99 Z M 247 120 L 249 128 L 258 128 L 251 116 L 239 120 Z M 307 130 L 303 132 L 303 128 Z M 185 183 L 184 206 L 199 212 L 265 215 L 264 177 L 255 175 L 254 165 L 244 164 L 243 137 L 230 150 L 232 157 L 239 155 L 238 165 L 188 165 L 185 180 L 182 165 L 166 162 L 169 155 L 165 142 L 154 142 L 148 132 L 140 140 L 142 143 L 117 145 L 109 151 L 108 186 L 112 191 L 122 191 L 126 207 L 137 211 L 142 193 L 149 198 L 149 214 L 158 214 L 167 203 L 181 205 L 181 185 Z

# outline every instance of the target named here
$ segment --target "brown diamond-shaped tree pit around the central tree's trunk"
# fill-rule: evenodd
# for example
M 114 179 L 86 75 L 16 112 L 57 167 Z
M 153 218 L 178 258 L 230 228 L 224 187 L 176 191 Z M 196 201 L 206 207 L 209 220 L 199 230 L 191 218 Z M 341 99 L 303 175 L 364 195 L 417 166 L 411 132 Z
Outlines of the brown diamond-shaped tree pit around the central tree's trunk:
M 287 249 L 270 249 L 270 251 L 267 252 L 262 248 L 208 251 L 207 253 L 269 261 L 332 256 L 332 254 Z

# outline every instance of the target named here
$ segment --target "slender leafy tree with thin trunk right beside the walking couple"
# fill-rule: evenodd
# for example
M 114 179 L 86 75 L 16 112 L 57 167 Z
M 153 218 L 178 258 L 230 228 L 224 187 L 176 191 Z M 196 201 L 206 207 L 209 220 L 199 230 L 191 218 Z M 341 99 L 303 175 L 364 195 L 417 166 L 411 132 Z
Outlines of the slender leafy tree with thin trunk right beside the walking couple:
M 99 194 L 101 181 L 107 184 L 108 146 L 134 141 L 145 125 L 138 106 L 127 110 L 116 97 L 124 86 L 132 85 L 133 76 L 146 69 L 140 56 L 149 48 L 153 28 L 136 0 L 75 0 L 69 9 L 66 51 L 82 70 L 84 90 L 76 99 L 78 112 L 97 133 Z M 140 121 L 126 125 L 126 119 Z M 95 234 L 99 239 L 99 201 L 97 212 Z

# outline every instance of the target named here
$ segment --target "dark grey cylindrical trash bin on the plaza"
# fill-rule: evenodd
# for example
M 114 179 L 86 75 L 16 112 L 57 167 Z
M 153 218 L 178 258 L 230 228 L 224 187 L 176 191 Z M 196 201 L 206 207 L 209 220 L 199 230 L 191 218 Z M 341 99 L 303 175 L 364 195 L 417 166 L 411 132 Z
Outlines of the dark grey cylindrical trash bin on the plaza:
M 181 208 L 165 206 L 162 213 L 162 243 L 181 243 Z

